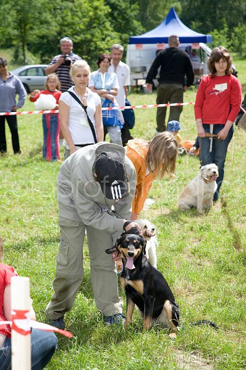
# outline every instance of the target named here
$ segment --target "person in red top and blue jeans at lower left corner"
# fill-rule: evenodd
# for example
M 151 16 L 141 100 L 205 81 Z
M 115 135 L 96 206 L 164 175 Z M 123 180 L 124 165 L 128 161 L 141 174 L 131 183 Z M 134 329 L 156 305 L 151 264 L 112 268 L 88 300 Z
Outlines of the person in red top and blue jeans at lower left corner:
M 1 263 L 3 257 L 0 239 L 0 321 L 11 321 L 11 277 L 18 276 L 13 267 Z M 30 299 L 31 319 L 35 312 Z M 32 370 L 43 369 L 57 348 L 57 338 L 53 332 L 33 329 L 31 333 Z M 9 325 L 0 325 L 0 370 L 11 369 L 11 330 Z

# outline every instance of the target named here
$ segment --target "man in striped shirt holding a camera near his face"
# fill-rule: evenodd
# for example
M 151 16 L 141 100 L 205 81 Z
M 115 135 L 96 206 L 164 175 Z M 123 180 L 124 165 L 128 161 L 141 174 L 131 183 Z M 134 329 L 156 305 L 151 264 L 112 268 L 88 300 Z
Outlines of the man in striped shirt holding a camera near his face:
M 51 63 L 45 70 L 45 74 L 56 73 L 61 82 L 61 92 L 68 91 L 73 85 L 70 79 L 70 69 L 73 63 L 81 59 L 80 56 L 72 52 L 73 43 L 69 37 L 60 39 L 60 47 L 62 54 L 54 56 Z

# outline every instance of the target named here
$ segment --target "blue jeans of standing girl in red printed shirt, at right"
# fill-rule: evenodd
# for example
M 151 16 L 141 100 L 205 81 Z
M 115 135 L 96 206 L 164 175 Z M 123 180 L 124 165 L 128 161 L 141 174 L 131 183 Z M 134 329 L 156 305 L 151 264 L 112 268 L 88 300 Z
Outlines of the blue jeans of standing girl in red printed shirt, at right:
M 213 134 L 218 134 L 219 131 L 221 131 L 225 125 L 213 125 Z M 210 125 L 203 125 L 203 128 L 206 132 L 210 132 Z M 218 185 L 216 192 L 213 195 L 213 199 L 217 201 L 219 198 L 220 193 L 220 186 L 222 185 L 223 179 L 224 179 L 224 172 L 225 172 L 225 161 L 227 157 L 227 148 L 229 145 L 229 142 L 231 141 L 232 135 L 234 132 L 233 125 L 229 129 L 228 135 L 225 140 L 217 140 L 212 139 L 212 151 L 210 153 L 210 138 L 199 138 L 199 144 L 200 144 L 200 164 L 201 166 L 209 165 L 210 163 L 215 163 L 216 166 L 218 166 L 219 169 L 219 176 L 216 180 L 216 183 Z

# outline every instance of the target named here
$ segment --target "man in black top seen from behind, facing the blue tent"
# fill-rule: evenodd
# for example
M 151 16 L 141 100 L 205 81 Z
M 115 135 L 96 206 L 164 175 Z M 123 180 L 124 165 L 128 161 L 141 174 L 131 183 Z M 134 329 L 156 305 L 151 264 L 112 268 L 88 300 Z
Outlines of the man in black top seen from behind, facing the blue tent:
M 170 36 L 168 45 L 168 49 L 158 53 L 146 77 L 147 89 L 150 90 L 153 85 L 153 78 L 156 77 L 160 66 L 157 104 L 183 103 L 183 92 L 193 84 L 194 80 L 191 59 L 187 53 L 178 48 L 178 37 L 176 35 Z M 186 82 L 185 75 L 187 77 Z M 170 107 L 168 122 L 179 121 L 182 109 L 182 106 Z M 166 107 L 157 109 L 156 134 L 166 130 L 166 111 Z

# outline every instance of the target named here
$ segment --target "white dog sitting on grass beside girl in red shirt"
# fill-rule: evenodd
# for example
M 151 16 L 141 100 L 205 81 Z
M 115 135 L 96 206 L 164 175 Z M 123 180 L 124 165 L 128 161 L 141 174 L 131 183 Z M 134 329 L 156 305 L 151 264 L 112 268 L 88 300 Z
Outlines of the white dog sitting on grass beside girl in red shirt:
M 217 189 L 218 175 L 218 167 L 214 163 L 202 166 L 199 174 L 183 188 L 178 198 L 178 207 L 185 211 L 193 206 L 199 213 L 204 213 L 203 208 L 209 210 Z

